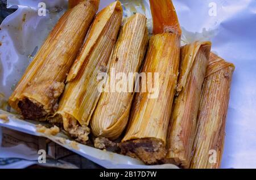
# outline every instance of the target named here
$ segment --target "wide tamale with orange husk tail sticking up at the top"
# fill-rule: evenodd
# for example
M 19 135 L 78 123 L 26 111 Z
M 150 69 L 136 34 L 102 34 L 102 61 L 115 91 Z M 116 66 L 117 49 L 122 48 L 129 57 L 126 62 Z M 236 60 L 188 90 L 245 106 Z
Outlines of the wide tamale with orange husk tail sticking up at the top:
M 158 73 L 159 80 L 152 81 L 152 86 L 158 87 L 159 93 L 155 98 L 150 97 L 149 91 L 136 93 L 129 126 L 119 144 L 121 153 L 139 158 L 146 164 L 154 164 L 166 156 L 167 130 L 179 70 L 181 35 L 180 29 L 171 29 L 171 27 L 179 27 L 179 24 L 176 24 L 177 19 L 175 21 L 170 19 L 168 22 L 170 13 L 172 17 L 177 18 L 170 0 L 150 1 L 150 5 L 154 28 L 158 23 L 155 17 L 158 15 L 157 12 L 170 10 L 168 14 L 163 13 L 160 17 L 166 20 L 166 25 L 170 28 L 165 32 L 166 28 L 163 25 L 163 29 L 154 31 L 160 33 L 150 38 L 142 68 L 147 80 L 150 72 L 153 75 Z

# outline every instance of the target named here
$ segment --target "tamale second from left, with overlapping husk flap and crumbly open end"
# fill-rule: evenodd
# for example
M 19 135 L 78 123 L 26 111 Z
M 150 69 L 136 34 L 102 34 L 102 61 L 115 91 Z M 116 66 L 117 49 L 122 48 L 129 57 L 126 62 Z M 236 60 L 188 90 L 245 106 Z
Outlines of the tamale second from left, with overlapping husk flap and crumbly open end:
M 88 140 L 90 118 L 101 95 L 97 89 L 101 82 L 97 77 L 101 72 L 107 72 L 121 22 L 122 6 L 119 1 L 97 14 L 68 74 L 59 109 L 53 117 L 53 121 L 61 119 L 64 129 L 81 143 Z

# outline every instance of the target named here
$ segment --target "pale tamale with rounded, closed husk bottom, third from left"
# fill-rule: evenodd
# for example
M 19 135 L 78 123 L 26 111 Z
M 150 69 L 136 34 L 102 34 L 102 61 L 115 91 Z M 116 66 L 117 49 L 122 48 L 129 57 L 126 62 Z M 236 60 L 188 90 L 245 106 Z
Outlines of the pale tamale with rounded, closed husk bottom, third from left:
M 113 68 L 116 73 L 124 73 L 126 77 L 129 73 L 139 72 L 147 40 L 146 16 L 137 13 L 128 18 L 115 45 L 110 68 Z M 110 83 L 112 80 L 110 75 L 109 77 Z M 128 89 L 125 92 L 101 94 L 90 122 L 94 136 L 117 139 L 121 135 L 129 118 L 133 95 L 134 93 L 129 92 Z

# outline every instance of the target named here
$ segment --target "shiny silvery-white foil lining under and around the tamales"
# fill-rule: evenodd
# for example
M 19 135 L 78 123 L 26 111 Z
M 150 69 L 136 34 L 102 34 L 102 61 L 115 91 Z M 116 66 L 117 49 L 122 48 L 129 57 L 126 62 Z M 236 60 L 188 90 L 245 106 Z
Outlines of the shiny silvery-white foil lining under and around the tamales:
M 8 7 L 18 10 L 0 25 L 0 108 L 8 110 L 6 100 L 42 45 L 49 31 L 67 9 L 67 1 L 9 0 Z M 38 15 L 38 3 L 47 5 L 46 16 Z M 101 1 L 100 8 L 111 0 Z M 147 0 L 123 0 L 124 18 L 134 12 L 147 16 L 152 31 L 152 18 Z M 255 0 L 174 0 L 183 29 L 182 44 L 195 40 L 212 41 L 212 51 L 234 63 L 222 168 L 256 168 L 256 1 Z M 6 114 L 1 110 L 0 114 Z M 32 121 L 11 115 L 0 125 L 37 136 Z M 0 131 L 1 132 L 1 131 Z M 176 168 L 174 165 L 145 166 L 141 161 L 105 152 L 86 145 L 73 149 L 58 138 L 47 136 L 64 147 L 106 168 Z M 0 153 L 1 156 L 1 153 Z

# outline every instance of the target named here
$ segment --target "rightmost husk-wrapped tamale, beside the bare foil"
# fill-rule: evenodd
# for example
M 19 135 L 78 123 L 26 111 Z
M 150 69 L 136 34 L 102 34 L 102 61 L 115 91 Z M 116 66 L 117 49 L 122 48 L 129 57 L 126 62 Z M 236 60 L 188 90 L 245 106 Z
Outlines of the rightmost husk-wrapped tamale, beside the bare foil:
M 219 168 L 234 65 L 210 53 L 190 168 Z

